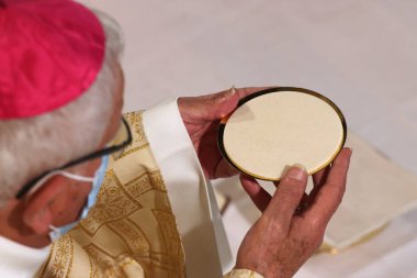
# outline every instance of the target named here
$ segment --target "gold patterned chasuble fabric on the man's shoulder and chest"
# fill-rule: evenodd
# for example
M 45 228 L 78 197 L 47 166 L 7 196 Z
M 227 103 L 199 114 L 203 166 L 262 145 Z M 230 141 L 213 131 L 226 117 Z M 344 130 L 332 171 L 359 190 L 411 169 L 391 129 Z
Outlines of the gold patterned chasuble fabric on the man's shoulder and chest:
M 127 113 L 125 119 L 133 132 L 132 145 L 117 159 L 111 158 L 94 207 L 84 220 L 50 246 L 49 256 L 36 277 L 187 276 L 183 235 L 179 234 L 165 180 L 146 138 L 143 113 Z M 200 243 L 201 245 L 206 244 Z M 188 254 L 191 262 L 193 254 Z M 210 252 L 200 255 L 208 254 L 213 255 Z M 217 267 L 211 265 L 216 259 L 206 258 L 205 267 Z M 192 274 L 188 277 L 193 278 L 195 271 Z M 225 277 L 260 277 L 253 275 L 240 269 Z M 204 269 L 198 275 L 199 278 L 208 276 L 215 277 Z

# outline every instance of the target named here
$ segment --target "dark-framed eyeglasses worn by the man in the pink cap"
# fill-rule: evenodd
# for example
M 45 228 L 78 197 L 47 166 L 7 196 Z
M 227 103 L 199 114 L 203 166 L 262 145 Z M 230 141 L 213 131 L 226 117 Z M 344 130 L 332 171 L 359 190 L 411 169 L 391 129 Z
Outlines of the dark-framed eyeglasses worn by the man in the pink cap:
M 40 176 L 35 177 L 34 179 L 32 179 L 31 181 L 29 181 L 27 184 L 25 184 L 19 190 L 19 192 L 16 193 L 15 198 L 16 199 L 22 199 L 29 191 L 31 191 L 36 186 L 36 184 L 41 179 L 45 178 L 47 175 L 49 175 L 49 174 L 52 174 L 54 171 L 59 171 L 59 170 L 72 167 L 75 165 L 82 164 L 84 162 L 102 157 L 103 155 L 114 154 L 114 156 L 116 158 L 119 158 L 123 154 L 124 148 L 127 145 L 129 145 L 131 143 L 132 143 L 132 131 L 128 127 L 128 124 L 127 124 L 126 120 L 124 120 L 122 118 L 121 127 L 119 129 L 119 131 L 117 131 L 114 140 L 111 142 L 110 146 L 108 146 L 105 148 L 102 148 L 102 149 L 99 149 L 99 151 L 95 151 L 93 153 L 90 153 L 88 155 L 84 155 L 84 156 L 82 156 L 80 158 L 74 159 L 74 160 L 71 160 L 71 162 L 69 162 L 69 163 L 67 163 L 67 164 L 65 164 L 65 165 L 63 165 L 63 166 L 60 166 L 58 168 L 55 168 L 55 169 L 52 169 L 52 170 L 47 170 L 47 171 L 41 174 Z

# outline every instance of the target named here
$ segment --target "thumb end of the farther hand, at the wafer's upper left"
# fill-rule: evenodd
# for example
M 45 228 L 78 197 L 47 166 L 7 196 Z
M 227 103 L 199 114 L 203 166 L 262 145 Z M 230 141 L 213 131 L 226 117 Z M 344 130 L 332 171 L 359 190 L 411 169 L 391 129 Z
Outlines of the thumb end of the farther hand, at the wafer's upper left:
M 206 120 L 215 121 L 225 118 L 235 110 L 238 101 L 239 97 L 236 93 L 235 87 L 210 96 Z

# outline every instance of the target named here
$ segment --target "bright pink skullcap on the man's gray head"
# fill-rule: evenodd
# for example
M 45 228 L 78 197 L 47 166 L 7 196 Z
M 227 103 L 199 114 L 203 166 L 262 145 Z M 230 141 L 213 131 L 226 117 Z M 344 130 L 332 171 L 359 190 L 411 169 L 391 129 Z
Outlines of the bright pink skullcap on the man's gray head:
M 35 116 L 94 82 L 103 27 L 70 0 L 0 0 L 0 120 Z

